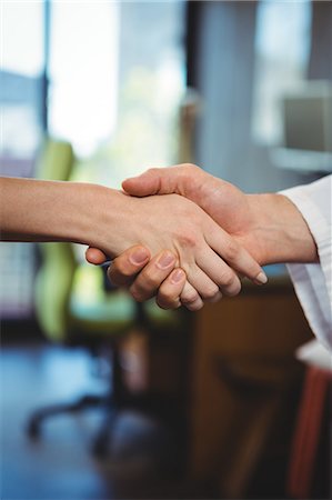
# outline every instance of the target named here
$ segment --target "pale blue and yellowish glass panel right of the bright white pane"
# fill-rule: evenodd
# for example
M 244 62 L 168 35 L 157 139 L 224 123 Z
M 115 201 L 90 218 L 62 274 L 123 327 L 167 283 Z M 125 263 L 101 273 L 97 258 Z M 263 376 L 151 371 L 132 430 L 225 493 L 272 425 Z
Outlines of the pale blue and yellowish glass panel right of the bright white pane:
M 117 183 L 178 161 L 185 89 L 184 3 L 121 4 L 119 114 L 107 146 Z

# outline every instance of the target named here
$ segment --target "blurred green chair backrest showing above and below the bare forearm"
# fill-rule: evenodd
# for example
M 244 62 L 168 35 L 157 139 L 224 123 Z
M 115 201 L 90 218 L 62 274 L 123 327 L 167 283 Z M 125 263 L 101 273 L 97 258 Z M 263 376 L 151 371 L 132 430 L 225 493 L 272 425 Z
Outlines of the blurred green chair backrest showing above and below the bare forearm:
M 47 139 L 37 162 L 37 177 L 68 180 L 73 168 L 71 144 Z M 41 243 L 42 263 L 36 280 L 34 306 L 44 334 L 64 341 L 69 323 L 69 301 L 77 261 L 71 243 Z

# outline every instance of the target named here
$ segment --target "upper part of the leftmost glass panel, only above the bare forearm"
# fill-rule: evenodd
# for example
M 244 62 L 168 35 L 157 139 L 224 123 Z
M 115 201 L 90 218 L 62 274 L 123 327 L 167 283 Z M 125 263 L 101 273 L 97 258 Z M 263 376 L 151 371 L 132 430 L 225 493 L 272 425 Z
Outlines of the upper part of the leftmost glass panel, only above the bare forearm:
M 1 173 L 28 176 L 41 134 L 43 3 L 1 2 Z

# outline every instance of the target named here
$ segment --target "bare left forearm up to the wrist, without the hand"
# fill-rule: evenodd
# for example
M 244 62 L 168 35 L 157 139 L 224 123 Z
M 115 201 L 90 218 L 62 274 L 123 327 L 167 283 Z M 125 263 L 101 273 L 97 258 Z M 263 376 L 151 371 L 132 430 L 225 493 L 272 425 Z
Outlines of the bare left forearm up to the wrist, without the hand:
M 0 194 L 3 241 L 97 244 L 97 226 L 104 219 L 105 203 L 109 231 L 112 224 L 115 228 L 118 192 L 100 186 L 2 178 Z

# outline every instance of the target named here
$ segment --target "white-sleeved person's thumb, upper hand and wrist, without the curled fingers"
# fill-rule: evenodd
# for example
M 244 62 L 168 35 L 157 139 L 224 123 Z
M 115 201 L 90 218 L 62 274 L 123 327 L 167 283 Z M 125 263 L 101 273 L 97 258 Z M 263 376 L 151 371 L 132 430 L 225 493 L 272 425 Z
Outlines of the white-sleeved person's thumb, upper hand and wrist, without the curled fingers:
M 135 197 L 182 194 L 209 213 L 261 266 L 318 261 L 316 246 L 305 220 L 282 194 L 245 194 L 194 164 L 151 169 L 127 179 L 122 187 Z

